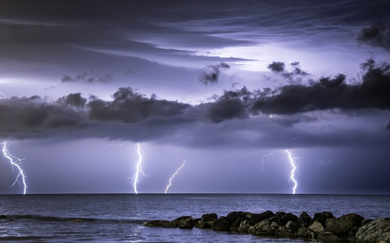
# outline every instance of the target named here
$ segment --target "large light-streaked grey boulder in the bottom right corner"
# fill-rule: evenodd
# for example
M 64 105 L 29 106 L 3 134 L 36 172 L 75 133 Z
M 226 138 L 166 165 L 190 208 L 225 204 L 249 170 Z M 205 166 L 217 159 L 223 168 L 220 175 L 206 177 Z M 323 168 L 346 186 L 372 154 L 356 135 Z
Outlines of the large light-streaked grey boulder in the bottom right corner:
M 390 220 L 379 218 L 361 226 L 355 235 L 358 243 L 390 243 Z

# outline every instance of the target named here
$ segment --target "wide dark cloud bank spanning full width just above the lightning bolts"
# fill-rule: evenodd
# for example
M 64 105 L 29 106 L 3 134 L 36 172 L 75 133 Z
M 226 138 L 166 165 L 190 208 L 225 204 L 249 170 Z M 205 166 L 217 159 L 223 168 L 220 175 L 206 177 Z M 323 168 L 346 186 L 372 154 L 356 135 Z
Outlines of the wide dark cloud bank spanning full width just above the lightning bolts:
M 232 142 L 248 146 L 315 146 L 334 145 L 335 140 L 339 144 L 388 144 L 390 138 L 383 134 L 383 123 L 373 132 L 353 122 L 348 126 L 321 124 L 324 121 L 318 119 L 318 114 L 310 113 L 333 108 L 389 110 L 389 65 L 376 65 L 370 60 L 362 68 L 359 84 L 348 84 L 340 74 L 308 85 L 225 90 L 215 101 L 198 105 L 158 99 L 155 95 L 146 97 L 129 87 L 119 88 L 111 101 L 95 96 L 87 101 L 80 93 L 56 102 L 38 96 L 2 99 L 0 136 L 162 142 L 173 139 L 177 144 L 191 146 Z M 273 118 L 268 116 L 271 113 Z M 375 116 L 384 122 L 383 115 Z

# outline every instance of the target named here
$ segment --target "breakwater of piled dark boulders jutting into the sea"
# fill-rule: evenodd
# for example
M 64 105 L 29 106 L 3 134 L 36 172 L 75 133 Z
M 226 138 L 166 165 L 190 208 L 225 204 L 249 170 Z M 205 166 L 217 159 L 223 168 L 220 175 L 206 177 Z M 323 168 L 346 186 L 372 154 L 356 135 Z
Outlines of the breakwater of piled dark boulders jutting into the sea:
M 348 239 L 358 243 L 390 243 L 390 218 L 364 219 L 354 213 L 335 218 L 331 212 L 318 212 L 312 218 L 306 212 L 298 217 L 286 212 L 234 211 L 219 218 L 215 213 L 209 213 L 203 214 L 201 218 L 181 216 L 172 221 L 153 220 L 144 222 L 143 225 L 182 229 L 210 228 L 258 236 L 302 238 L 305 241 Z

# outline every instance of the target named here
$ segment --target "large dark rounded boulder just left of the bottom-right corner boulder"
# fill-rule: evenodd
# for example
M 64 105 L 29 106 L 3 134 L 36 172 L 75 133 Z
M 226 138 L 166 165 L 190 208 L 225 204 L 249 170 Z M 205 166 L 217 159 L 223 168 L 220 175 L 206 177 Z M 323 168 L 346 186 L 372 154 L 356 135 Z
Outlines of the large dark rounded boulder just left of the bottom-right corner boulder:
M 325 231 L 332 232 L 338 237 L 348 237 L 351 228 L 354 226 L 359 227 L 362 220 L 362 216 L 354 213 L 345 214 L 337 219 L 329 218 L 325 223 Z

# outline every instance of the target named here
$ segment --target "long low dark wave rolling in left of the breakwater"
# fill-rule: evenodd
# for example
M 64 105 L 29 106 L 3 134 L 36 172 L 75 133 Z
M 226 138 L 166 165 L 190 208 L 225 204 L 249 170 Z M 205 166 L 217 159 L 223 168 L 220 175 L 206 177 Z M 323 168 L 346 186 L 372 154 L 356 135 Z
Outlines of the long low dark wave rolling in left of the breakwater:
M 111 223 L 129 223 L 129 224 L 142 224 L 147 220 L 128 220 L 128 219 L 99 219 L 99 218 L 79 218 L 79 217 L 56 217 L 34 214 L 15 214 L 15 215 L 0 215 L 0 220 L 8 219 L 31 219 L 40 221 L 74 221 L 77 223 L 82 222 L 111 222 Z

